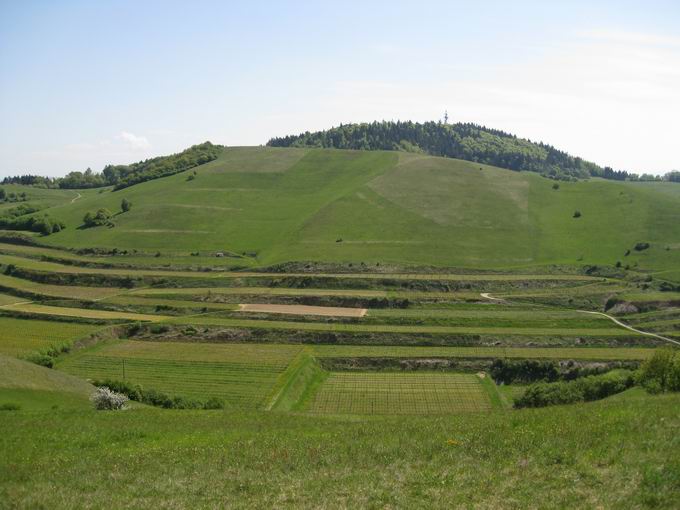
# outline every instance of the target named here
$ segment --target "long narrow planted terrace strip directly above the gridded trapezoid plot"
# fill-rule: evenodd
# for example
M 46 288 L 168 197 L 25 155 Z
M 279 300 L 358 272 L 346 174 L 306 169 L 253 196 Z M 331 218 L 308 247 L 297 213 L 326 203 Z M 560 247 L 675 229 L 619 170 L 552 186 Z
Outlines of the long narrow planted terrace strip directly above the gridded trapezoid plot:
M 400 347 L 315 345 L 318 358 L 527 358 L 560 360 L 644 360 L 653 348 L 641 347 Z

